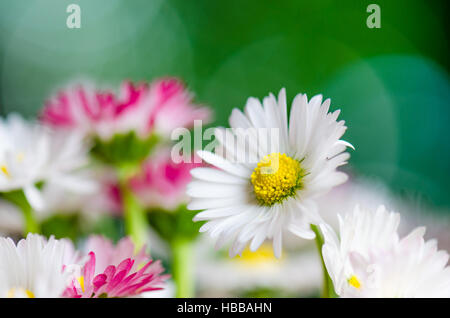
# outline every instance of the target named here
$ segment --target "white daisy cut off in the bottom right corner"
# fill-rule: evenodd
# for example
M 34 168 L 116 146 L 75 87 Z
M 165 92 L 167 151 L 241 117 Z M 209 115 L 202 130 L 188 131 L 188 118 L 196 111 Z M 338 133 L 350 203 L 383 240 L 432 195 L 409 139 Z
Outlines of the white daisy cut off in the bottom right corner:
M 321 224 L 322 252 L 341 297 L 450 297 L 449 255 L 437 241 L 425 241 L 419 227 L 399 239 L 398 213 L 355 207 L 339 217 L 340 239 Z

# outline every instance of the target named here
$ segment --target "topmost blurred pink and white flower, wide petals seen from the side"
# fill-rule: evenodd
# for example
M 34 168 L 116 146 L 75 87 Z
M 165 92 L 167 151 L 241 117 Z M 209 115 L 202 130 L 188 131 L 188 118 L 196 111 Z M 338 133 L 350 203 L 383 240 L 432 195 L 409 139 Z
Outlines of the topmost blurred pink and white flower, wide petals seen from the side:
M 72 84 L 51 97 L 41 113 L 47 124 L 105 140 L 129 131 L 144 138 L 153 132 L 167 137 L 175 128 L 189 128 L 194 120 L 209 121 L 210 117 L 210 110 L 194 105 L 192 95 L 175 78 L 138 84 L 124 81 L 117 95 L 88 82 Z

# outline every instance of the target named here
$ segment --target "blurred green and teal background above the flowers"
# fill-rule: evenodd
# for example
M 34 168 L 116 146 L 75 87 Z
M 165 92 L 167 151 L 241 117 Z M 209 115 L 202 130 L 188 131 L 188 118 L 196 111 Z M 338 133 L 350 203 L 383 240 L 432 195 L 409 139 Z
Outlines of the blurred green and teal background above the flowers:
M 66 26 L 71 3 L 80 29 Z M 219 125 L 248 96 L 322 93 L 348 124 L 353 173 L 449 211 L 447 3 L 0 0 L 1 112 L 34 116 L 80 77 L 179 76 Z

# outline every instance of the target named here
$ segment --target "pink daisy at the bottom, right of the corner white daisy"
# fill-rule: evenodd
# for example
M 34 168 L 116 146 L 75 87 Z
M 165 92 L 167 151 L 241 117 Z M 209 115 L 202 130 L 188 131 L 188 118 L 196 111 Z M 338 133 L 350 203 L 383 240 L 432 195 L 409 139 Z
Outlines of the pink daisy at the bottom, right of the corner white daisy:
M 128 297 L 163 288 L 167 275 L 163 268 L 145 253 L 145 246 L 135 254 L 131 239 L 121 239 L 117 246 L 92 236 L 86 249 L 88 260 L 73 275 L 64 296 L 72 298 Z M 76 273 L 76 271 L 72 271 Z

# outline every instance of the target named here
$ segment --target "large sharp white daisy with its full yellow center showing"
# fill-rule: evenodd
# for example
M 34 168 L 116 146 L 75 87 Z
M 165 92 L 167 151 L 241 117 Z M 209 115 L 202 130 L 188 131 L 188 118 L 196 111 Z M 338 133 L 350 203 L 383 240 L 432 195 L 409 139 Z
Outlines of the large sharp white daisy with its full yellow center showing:
M 288 125 L 282 89 L 278 100 L 270 94 L 262 105 L 249 98 L 244 113 L 232 111 L 231 130 L 216 129 L 216 153 L 198 152 L 213 167 L 193 169 L 187 193 L 189 209 L 205 210 L 194 220 L 208 221 L 201 231 L 217 238 L 217 248 L 233 240 L 233 257 L 269 238 L 280 257 L 284 230 L 315 237 L 310 224 L 321 222 L 315 199 L 347 179 L 336 168 L 346 163 L 351 146 L 340 140 L 346 130 L 336 121 L 340 111 L 328 113 L 329 106 L 321 95 L 308 101 L 299 94 Z

